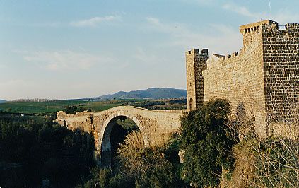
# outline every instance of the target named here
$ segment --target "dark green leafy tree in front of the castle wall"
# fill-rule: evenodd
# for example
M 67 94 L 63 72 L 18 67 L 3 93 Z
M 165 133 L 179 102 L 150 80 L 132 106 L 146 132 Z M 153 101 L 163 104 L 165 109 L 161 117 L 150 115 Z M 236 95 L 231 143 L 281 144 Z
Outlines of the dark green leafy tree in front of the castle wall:
M 233 167 L 228 116 L 230 103 L 225 99 L 212 99 L 200 110 L 182 117 L 181 142 L 184 151 L 182 177 L 195 186 L 216 186 L 221 173 Z

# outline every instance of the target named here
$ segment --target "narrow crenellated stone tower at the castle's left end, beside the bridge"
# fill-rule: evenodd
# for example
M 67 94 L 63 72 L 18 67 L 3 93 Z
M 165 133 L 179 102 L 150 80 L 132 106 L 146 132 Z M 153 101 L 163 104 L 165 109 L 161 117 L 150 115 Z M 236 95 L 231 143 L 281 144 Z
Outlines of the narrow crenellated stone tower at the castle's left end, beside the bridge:
M 187 110 L 197 110 L 204 105 L 204 78 L 202 71 L 206 69 L 208 49 L 192 49 L 186 52 L 187 70 Z

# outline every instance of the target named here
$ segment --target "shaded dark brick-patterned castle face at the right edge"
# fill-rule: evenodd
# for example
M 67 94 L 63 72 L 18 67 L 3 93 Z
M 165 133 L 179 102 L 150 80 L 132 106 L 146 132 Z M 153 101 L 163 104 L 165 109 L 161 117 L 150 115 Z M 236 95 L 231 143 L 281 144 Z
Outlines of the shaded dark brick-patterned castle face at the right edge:
M 298 119 L 299 24 L 262 28 L 266 118 L 269 125 Z

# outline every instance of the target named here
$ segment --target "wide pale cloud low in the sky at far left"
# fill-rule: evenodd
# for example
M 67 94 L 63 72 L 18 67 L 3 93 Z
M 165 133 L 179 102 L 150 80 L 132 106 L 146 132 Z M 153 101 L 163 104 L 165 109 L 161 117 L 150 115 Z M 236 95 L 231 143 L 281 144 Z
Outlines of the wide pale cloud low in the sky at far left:
M 52 71 L 76 71 L 90 69 L 94 64 L 105 64 L 112 61 L 110 57 L 72 52 L 23 52 L 25 61 L 33 62 L 38 66 Z

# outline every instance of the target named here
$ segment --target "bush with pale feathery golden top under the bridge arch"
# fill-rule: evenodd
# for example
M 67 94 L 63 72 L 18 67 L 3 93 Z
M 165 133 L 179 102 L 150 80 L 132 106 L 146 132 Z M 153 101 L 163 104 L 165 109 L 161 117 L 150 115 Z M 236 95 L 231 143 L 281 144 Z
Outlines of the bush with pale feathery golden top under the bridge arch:
M 175 169 L 165 158 L 166 146 L 146 147 L 140 132 L 132 132 L 119 148 L 119 175 L 135 187 L 175 187 Z

